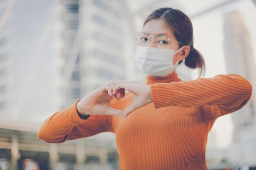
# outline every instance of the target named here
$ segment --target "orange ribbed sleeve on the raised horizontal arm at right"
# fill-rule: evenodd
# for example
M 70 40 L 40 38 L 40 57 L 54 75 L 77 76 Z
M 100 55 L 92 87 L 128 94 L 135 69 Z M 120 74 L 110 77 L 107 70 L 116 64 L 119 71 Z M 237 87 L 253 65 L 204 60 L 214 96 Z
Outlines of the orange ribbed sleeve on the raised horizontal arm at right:
M 210 118 L 242 108 L 251 98 L 252 85 L 237 74 L 172 83 L 151 84 L 156 108 L 165 106 L 194 107 L 205 105 Z

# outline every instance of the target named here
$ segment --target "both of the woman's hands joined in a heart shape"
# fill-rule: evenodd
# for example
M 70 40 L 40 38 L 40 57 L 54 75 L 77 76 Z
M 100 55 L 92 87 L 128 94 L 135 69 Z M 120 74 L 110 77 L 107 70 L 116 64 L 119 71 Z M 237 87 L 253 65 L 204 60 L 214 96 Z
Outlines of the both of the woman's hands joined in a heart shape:
M 125 96 L 125 90 L 134 94 L 135 97 L 130 106 L 123 112 L 110 107 L 112 98 L 118 101 Z M 83 115 L 115 115 L 126 118 L 134 110 L 152 102 L 150 85 L 140 84 L 132 81 L 109 82 L 89 93 L 77 103 L 78 112 Z

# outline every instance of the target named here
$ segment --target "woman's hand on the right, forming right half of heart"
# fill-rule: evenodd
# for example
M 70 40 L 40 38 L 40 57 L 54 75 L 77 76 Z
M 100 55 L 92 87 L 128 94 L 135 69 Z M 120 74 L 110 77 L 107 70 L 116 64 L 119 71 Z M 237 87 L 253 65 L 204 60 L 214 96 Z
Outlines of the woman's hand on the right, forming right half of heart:
M 124 118 L 134 110 L 152 102 L 150 85 L 140 84 L 138 82 L 116 81 L 116 86 L 113 88 L 112 94 L 117 94 L 119 90 L 127 90 L 135 95 L 132 104 L 123 112 Z

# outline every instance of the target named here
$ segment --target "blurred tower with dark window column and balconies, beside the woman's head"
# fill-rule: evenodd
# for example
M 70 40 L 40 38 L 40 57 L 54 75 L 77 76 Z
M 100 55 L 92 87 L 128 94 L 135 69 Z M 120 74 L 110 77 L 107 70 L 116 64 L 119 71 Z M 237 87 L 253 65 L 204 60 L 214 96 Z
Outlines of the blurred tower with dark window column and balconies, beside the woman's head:
M 65 0 L 61 4 L 65 108 L 109 81 L 132 78 L 129 61 L 135 36 L 124 1 Z

